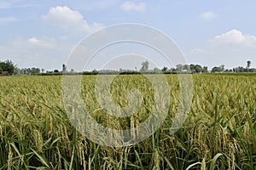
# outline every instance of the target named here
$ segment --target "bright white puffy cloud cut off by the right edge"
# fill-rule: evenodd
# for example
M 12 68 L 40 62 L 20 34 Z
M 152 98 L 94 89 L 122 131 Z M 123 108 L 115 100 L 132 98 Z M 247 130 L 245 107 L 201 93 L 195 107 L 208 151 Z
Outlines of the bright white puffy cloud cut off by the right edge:
M 247 47 L 256 48 L 256 37 L 253 35 L 243 34 L 236 29 L 214 37 L 216 42 L 240 44 Z

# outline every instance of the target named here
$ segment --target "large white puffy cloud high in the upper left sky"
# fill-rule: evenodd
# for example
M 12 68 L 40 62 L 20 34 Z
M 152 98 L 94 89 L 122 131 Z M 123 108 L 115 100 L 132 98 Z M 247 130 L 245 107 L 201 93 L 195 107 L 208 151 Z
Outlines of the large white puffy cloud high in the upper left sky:
M 43 20 L 46 20 L 51 25 L 61 26 L 61 28 L 79 31 L 79 32 L 91 32 L 102 28 L 101 24 L 93 23 L 89 25 L 84 16 L 78 11 L 74 11 L 67 6 L 57 6 L 49 8 L 49 12 L 42 16 Z

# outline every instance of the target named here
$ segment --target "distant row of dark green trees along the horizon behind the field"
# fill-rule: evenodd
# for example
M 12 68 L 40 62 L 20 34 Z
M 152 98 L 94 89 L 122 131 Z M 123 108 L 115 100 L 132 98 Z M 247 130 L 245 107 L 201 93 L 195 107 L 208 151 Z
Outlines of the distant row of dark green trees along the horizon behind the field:
M 54 71 L 44 71 L 44 69 L 39 69 L 36 67 L 32 68 L 18 68 L 17 65 L 14 64 L 11 60 L 0 61 L 0 75 L 1 76 L 8 76 L 8 75 L 61 75 L 65 74 L 86 74 L 86 75 L 96 75 L 96 74 L 139 74 L 139 73 L 148 73 L 154 74 L 159 72 L 164 72 L 166 74 L 176 74 L 176 73 L 222 73 L 222 72 L 256 72 L 255 68 L 251 68 L 252 62 L 247 61 L 246 67 L 238 66 L 233 69 L 225 69 L 224 65 L 214 66 L 212 70 L 208 70 L 207 66 L 201 66 L 198 64 L 190 64 L 190 65 L 182 65 L 178 64 L 175 68 L 168 68 L 164 66 L 163 68 L 154 68 L 153 70 L 149 70 L 149 63 L 148 61 L 143 61 L 141 64 L 141 68 L 137 71 L 135 70 L 124 70 L 119 69 L 119 71 L 115 70 L 101 70 L 101 71 L 83 71 L 83 72 L 76 72 L 73 69 L 67 71 L 67 65 L 62 65 L 62 70 L 54 70 Z

